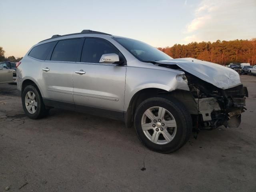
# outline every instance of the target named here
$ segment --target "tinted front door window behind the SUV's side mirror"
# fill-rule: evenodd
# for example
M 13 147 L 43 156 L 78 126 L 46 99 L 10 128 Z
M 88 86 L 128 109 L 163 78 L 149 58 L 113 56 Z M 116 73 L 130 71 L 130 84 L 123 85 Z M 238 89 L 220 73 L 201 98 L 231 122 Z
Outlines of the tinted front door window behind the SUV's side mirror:
M 101 56 L 108 53 L 119 54 L 119 51 L 105 40 L 86 38 L 82 50 L 81 62 L 99 63 Z

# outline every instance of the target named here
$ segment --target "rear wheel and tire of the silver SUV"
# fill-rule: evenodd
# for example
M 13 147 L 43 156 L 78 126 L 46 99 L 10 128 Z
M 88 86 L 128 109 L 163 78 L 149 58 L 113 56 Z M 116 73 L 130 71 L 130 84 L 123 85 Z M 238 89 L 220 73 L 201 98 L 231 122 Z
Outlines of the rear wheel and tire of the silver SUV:
M 34 96 L 34 100 L 30 98 L 29 95 L 31 97 Z M 32 108 L 30 108 L 30 104 Z M 34 106 L 34 111 L 33 111 L 33 106 Z M 40 91 L 38 90 L 37 87 L 33 85 L 28 85 L 24 88 L 24 91 L 22 92 L 22 107 L 25 114 L 30 119 L 42 118 L 46 116 L 49 112 L 49 110 L 47 110 L 44 106 L 44 102 L 40 94 Z

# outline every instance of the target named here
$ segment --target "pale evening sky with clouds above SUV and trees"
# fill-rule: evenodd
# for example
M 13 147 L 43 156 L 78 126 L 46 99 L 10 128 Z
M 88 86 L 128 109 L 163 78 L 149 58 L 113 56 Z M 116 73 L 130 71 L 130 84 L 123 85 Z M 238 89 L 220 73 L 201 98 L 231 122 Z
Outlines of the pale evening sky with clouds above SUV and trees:
M 84 29 L 154 47 L 256 38 L 256 0 L 0 0 L 0 10 L 6 57 Z

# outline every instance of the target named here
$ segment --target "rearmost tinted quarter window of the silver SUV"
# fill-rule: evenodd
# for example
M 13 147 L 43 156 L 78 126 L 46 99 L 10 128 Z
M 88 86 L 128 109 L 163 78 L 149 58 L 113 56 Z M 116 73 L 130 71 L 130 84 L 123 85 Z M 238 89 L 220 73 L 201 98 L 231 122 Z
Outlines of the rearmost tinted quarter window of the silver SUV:
M 50 42 L 50 43 L 38 45 L 34 47 L 28 55 L 36 59 L 45 60 L 50 50 L 55 44 L 56 42 Z

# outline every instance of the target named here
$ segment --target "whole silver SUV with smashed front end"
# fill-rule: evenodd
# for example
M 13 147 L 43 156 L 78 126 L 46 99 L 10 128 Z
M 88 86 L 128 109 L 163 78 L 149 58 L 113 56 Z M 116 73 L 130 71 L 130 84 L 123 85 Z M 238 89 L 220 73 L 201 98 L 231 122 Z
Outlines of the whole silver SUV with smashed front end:
M 123 120 L 162 153 L 182 147 L 192 130 L 239 126 L 248 96 L 230 68 L 91 30 L 43 40 L 17 66 L 29 118 L 56 107 Z

